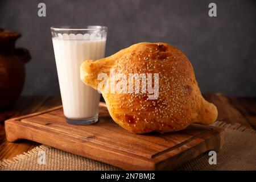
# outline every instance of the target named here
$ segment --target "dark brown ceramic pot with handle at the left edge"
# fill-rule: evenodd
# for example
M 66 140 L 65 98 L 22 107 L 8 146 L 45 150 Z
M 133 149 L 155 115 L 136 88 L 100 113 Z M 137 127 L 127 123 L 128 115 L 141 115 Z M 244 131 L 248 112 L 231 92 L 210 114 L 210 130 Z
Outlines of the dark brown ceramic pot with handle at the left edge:
M 31 57 L 27 49 L 15 48 L 20 36 L 18 32 L 0 28 L 0 109 L 13 105 L 24 85 L 24 63 Z

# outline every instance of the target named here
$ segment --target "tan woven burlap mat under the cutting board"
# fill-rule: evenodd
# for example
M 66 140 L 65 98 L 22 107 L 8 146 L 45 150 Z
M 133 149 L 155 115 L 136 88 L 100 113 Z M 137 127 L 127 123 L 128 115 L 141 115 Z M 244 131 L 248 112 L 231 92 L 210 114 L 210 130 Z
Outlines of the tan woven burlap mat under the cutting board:
M 208 152 L 183 164 L 176 170 L 256 170 L 256 132 L 240 125 L 214 123 L 225 129 L 224 146 L 217 152 L 217 164 L 210 165 Z M 45 152 L 45 164 L 39 161 Z M 39 164 L 41 163 L 41 164 Z M 48 146 L 33 148 L 11 160 L 0 162 L 0 170 L 120 170 Z

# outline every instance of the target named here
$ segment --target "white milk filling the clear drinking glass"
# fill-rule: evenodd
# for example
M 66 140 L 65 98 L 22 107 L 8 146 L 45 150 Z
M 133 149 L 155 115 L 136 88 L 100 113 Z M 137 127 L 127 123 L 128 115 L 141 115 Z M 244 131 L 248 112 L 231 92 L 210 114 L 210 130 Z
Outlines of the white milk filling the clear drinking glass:
M 88 34 L 89 35 L 89 34 Z M 88 59 L 105 56 L 104 40 L 81 38 L 81 34 L 59 34 L 53 38 L 53 48 L 60 84 L 64 115 L 70 119 L 88 119 L 98 115 L 100 94 L 80 79 L 80 65 Z

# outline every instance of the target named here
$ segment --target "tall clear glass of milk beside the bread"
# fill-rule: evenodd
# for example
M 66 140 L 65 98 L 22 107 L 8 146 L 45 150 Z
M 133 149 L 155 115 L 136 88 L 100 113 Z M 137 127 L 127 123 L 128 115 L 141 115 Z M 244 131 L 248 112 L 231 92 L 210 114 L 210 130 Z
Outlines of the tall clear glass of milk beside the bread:
M 107 31 L 104 26 L 51 27 L 61 100 L 70 124 L 98 121 L 100 94 L 81 81 L 80 65 L 105 56 Z

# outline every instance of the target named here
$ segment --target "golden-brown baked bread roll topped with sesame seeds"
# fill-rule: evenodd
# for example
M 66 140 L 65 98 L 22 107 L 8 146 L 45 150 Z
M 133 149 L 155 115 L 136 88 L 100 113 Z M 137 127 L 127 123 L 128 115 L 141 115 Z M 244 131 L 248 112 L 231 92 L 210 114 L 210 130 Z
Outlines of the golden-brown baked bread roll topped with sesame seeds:
M 126 84 L 126 92 L 110 92 L 113 89 L 113 70 L 115 76 L 122 73 L 127 80 L 130 73 L 151 73 L 152 88 L 158 86 L 158 93 L 154 93 L 156 97 L 152 97 L 152 90 L 142 92 L 145 89 L 142 81 L 139 84 L 141 92 L 138 88 L 135 92 L 135 84 L 134 92 L 127 92 L 131 81 L 122 82 L 125 79 L 120 78 L 115 78 L 115 86 L 122 82 L 122 88 L 125 88 Z M 191 123 L 209 125 L 217 118 L 216 106 L 205 101 L 201 95 L 190 61 L 184 53 L 169 44 L 134 44 L 104 59 L 84 61 L 80 72 L 81 80 L 86 85 L 102 93 L 113 120 L 133 133 L 178 131 Z M 99 79 L 101 73 L 107 77 Z M 158 79 L 154 77 L 156 73 Z M 99 88 L 102 80 L 106 81 L 105 85 Z M 148 83 L 150 80 L 147 80 Z M 110 90 L 107 89 L 109 87 Z

